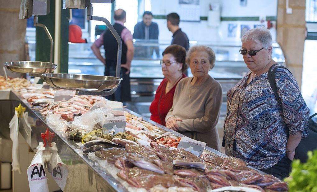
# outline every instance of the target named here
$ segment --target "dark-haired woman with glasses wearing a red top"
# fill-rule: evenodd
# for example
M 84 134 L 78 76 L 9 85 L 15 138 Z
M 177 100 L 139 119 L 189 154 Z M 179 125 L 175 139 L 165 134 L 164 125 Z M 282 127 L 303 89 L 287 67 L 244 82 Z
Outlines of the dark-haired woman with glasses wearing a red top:
M 186 50 L 180 45 L 170 45 L 163 51 L 161 60 L 165 78 L 156 90 L 155 98 L 150 106 L 151 120 L 165 126 L 165 116 L 173 105 L 173 97 L 179 80 L 186 77 L 184 72 Z

